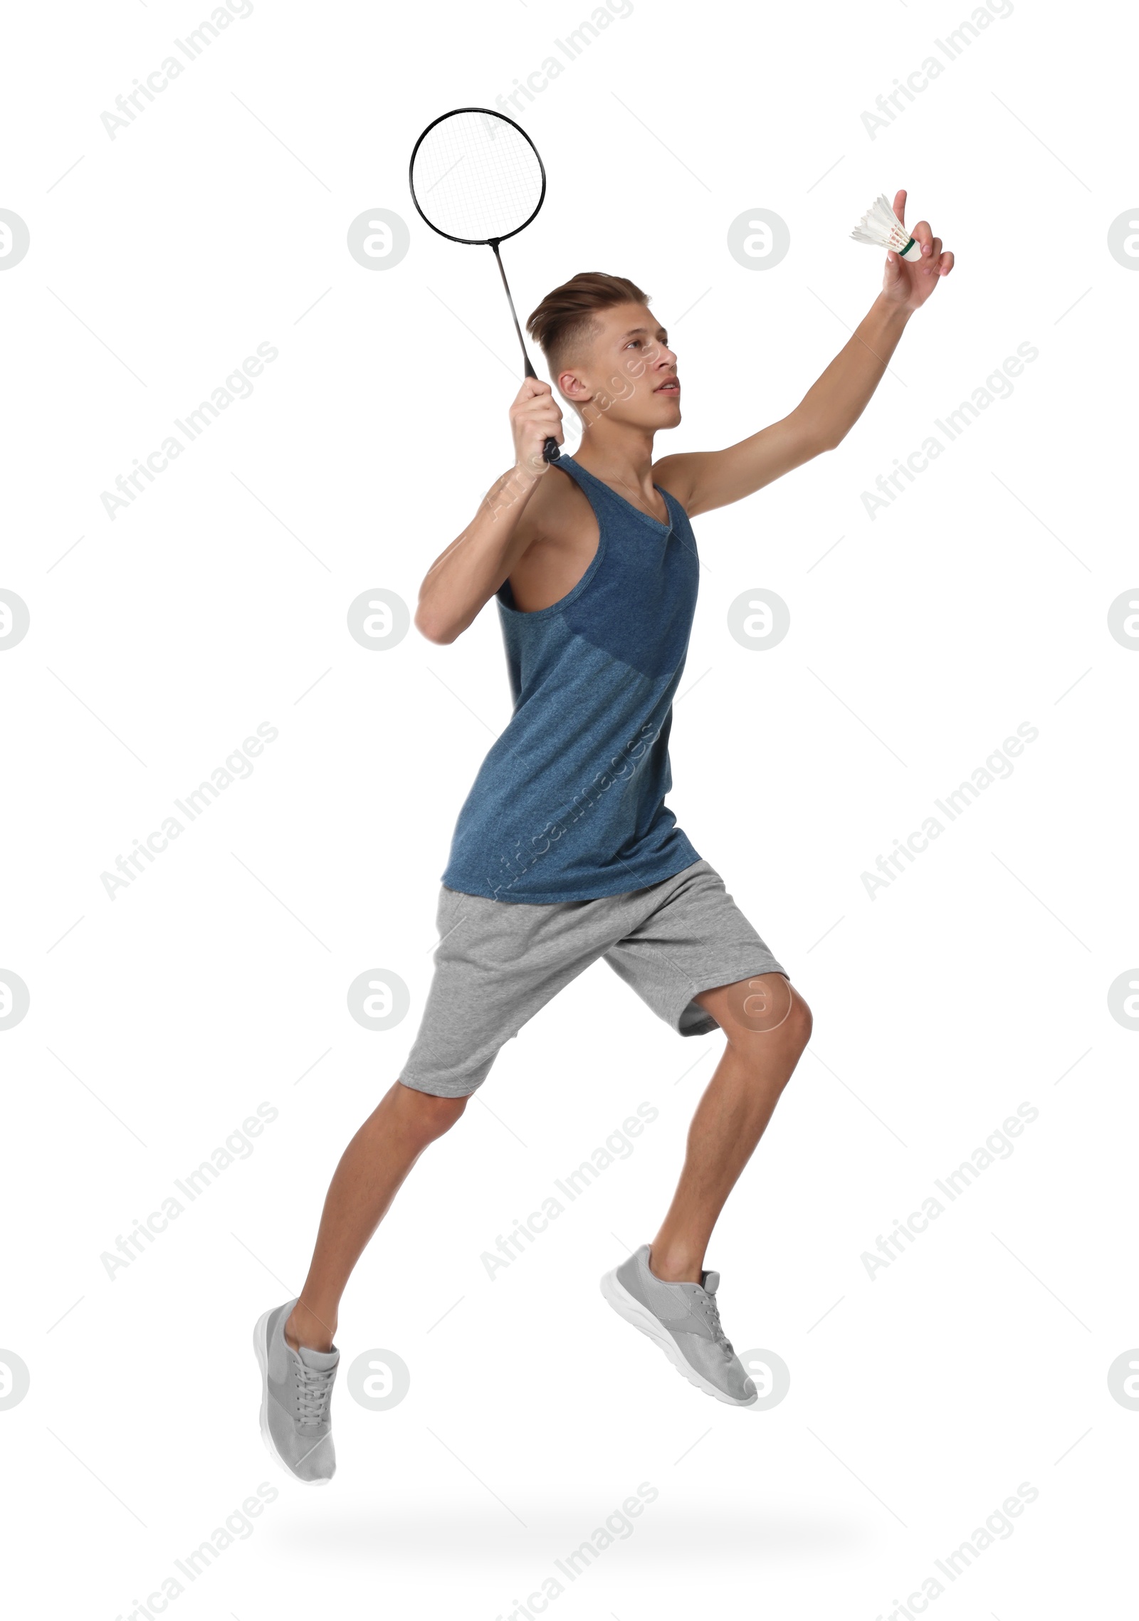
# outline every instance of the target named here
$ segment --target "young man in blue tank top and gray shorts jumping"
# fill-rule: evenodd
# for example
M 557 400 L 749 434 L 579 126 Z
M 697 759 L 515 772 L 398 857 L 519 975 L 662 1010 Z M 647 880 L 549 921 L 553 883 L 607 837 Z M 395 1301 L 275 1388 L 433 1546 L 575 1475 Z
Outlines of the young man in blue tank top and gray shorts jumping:
M 899 219 L 904 207 L 899 191 Z M 953 269 L 925 220 L 914 237 L 920 261 L 886 254 L 870 313 L 791 415 L 726 451 L 653 460 L 656 433 L 680 421 L 680 383 L 668 332 L 630 280 L 575 276 L 527 323 L 582 417 L 582 444 L 543 460 L 548 438 L 562 443 L 562 413 L 549 384 L 523 383 L 514 465 L 420 590 L 415 622 L 442 644 L 496 597 L 515 707 L 459 815 L 412 1052 L 337 1165 L 300 1297 L 254 1331 L 261 1431 L 298 1480 L 335 1469 L 340 1295 L 397 1188 L 502 1042 L 598 958 L 679 1034 L 726 1036 L 672 1204 L 601 1290 L 698 1389 L 736 1407 L 757 1401 L 703 1258 L 807 1044 L 810 1010 L 664 806 L 697 598 L 689 519 L 849 433 L 911 314 Z

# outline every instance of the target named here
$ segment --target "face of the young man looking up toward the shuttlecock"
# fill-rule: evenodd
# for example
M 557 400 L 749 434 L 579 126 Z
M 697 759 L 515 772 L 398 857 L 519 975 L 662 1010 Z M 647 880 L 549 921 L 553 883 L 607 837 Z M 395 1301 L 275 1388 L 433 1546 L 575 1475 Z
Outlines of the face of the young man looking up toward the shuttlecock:
M 680 421 L 680 381 L 668 332 L 646 305 L 598 310 L 596 332 L 562 366 L 557 387 L 587 423 L 608 417 L 656 433 Z

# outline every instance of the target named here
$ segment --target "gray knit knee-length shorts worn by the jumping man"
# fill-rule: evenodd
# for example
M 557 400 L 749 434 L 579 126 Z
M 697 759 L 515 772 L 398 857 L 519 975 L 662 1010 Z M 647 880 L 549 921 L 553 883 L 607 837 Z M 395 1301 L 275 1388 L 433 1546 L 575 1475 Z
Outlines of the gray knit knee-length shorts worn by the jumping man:
M 591 901 L 491 901 L 442 885 L 436 927 L 434 977 L 399 1078 L 437 1097 L 481 1086 L 502 1044 L 599 956 L 680 1036 L 718 1028 L 698 992 L 786 974 L 706 861 Z

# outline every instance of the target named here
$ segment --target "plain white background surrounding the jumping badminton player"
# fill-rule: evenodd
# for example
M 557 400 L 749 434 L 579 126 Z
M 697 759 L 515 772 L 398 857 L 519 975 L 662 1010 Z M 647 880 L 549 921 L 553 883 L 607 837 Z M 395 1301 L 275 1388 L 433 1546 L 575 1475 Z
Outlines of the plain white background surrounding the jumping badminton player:
M 638 0 L 520 115 L 549 191 L 504 250 L 518 310 L 582 269 L 651 293 L 685 384 L 661 454 L 800 399 L 875 297 L 880 256 L 847 235 L 880 191 L 907 186 L 958 254 L 844 444 L 697 522 L 671 804 L 815 1013 L 708 1264 L 734 1344 L 791 1391 L 713 1404 L 598 1294 L 655 1234 L 723 1046 L 598 964 L 507 1046 L 352 1281 L 343 1367 L 392 1350 L 412 1384 L 376 1414 L 342 1379 L 322 1493 L 262 1451 L 251 1329 L 300 1289 L 335 1161 L 399 1075 L 454 819 L 509 716 L 493 609 L 450 647 L 347 632 L 363 592 L 415 605 L 510 460 L 494 263 L 426 230 L 407 159 L 590 11 L 259 0 L 115 139 L 100 113 L 207 11 L 10 13 L 13 1613 L 134 1613 L 262 1480 L 275 1501 L 185 1584 L 183 1621 L 509 1616 L 642 1482 L 656 1499 L 552 1613 L 873 1621 L 1022 1482 L 1035 1501 L 930 1610 L 1121 1613 L 1139 1415 L 1107 1370 L 1139 1344 L 1139 1036 L 1108 986 L 1139 960 L 1139 658 L 1107 613 L 1139 572 L 1139 276 L 1107 237 L 1139 204 L 1134 21 L 1016 0 L 872 138 L 862 113 L 970 10 Z M 368 271 L 345 237 L 376 207 L 412 246 Z M 726 245 L 755 207 L 791 232 L 766 269 Z M 112 520 L 102 491 L 261 342 L 253 396 Z M 862 491 L 1022 342 L 1011 397 L 872 520 Z M 753 588 L 789 605 L 776 648 L 727 632 Z M 100 875 L 261 721 L 251 778 L 110 900 Z M 870 898 L 862 874 L 1024 721 L 1011 778 Z M 373 969 L 410 989 L 387 1033 L 347 1008 Z M 259 1102 L 279 1115 L 251 1157 L 112 1281 L 100 1255 Z M 488 1279 L 483 1251 L 638 1102 L 659 1117 L 632 1157 Z M 1022 1102 L 1013 1156 L 872 1279 L 864 1251 Z

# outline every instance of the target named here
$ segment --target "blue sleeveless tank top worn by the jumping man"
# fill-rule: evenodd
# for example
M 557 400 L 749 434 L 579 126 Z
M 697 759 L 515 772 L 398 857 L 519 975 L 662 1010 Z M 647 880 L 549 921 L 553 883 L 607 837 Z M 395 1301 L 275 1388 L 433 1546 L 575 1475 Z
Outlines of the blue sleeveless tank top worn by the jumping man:
M 700 861 L 664 806 L 672 697 L 700 562 L 680 503 L 642 512 L 572 456 L 598 550 L 577 585 L 522 613 L 497 590 L 514 713 L 459 812 L 447 888 L 501 901 L 622 895 Z M 659 490 L 659 485 L 656 486 Z

